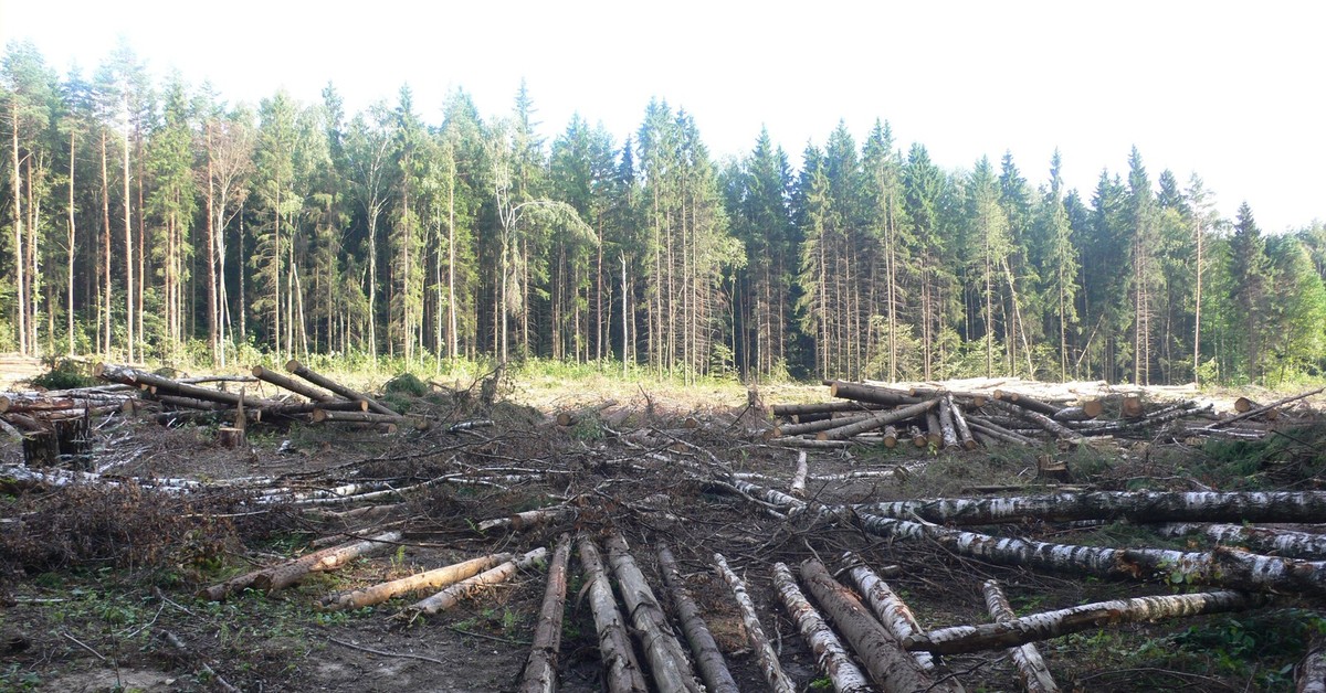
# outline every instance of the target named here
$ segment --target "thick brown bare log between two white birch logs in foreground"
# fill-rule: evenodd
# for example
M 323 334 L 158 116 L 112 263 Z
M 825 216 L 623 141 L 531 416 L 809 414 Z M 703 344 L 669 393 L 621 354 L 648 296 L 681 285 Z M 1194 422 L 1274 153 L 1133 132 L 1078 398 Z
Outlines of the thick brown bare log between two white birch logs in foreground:
M 898 639 L 888 635 L 871 616 L 857 595 L 829 575 L 823 563 L 814 559 L 802 562 L 801 582 L 829 615 L 829 620 L 838 625 L 838 631 L 861 656 L 871 681 L 884 693 L 955 690 L 948 681 L 934 681 L 916 663 L 916 657 L 904 651 Z

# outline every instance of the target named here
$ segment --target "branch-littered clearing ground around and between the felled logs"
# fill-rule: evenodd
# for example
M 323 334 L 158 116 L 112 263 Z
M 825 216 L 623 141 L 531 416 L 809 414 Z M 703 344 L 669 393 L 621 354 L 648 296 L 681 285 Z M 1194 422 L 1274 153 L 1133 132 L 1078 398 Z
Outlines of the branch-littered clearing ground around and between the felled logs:
M 610 529 L 626 537 L 660 595 L 655 550 L 660 543 L 672 549 L 743 690 L 765 690 L 766 684 L 727 586 L 709 570 L 715 553 L 748 582 L 800 690 L 827 684 L 773 591 L 776 562 L 797 566 L 818 557 L 833 566 L 850 550 L 875 568 L 898 566 L 888 583 L 923 628 L 987 623 L 981 583 L 991 578 L 1005 586 L 1018 612 L 1176 591 L 994 566 L 927 542 L 880 539 L 850 523 L 770 517 L 748 498 L 679 472 L 713 464 L 792 476 L 797 451 L 761 437 L 768 416 L 748 407 L 744 390 L 650 392 L 610 379 L 554 380 L 517 383 L 491 407 L 453 395 L 412 404 L 447 421 L 495 421 L 475 432 L 263 425 L 236 451 L 220 448 L 210 427 L 162 428 L 150 419 L 115 416 L 97 429 L 91 464 L 113 469 L 107 473 L 119 484 L 48 488 L 0 476 L 0 690 L 216 690 L 221 681 L 245 692 L 513 690 L 529 653 L 544 572 L 521 574 L 479 599 L 411 621 L 392 619 L 410 603 L 403 599 L 350 612 L 321 612 L 314 604 L 332 592 L 467 558 L 550 547 L 564 533 L 601 538 Z M 769 404 L 827 399 L 822 387 L 809 386 L 766 388 L 762 396 Z M 614 404 L 583 409 L 607 401 Z M 569 409 L 587 413 L 574 425 L 556 425 L 553 415 Z M 1066 462 L 1070 482 L 1099 490 L 1307 490 L 1322 485 L 1326 435 L 1319 424 L 1306 431 L 1294 433 L 1305 441 L 1301 448 L 1274 456 L 1249 447 L 1123 440 L 1073 451 L 812 451 L 815 476 L 907 472 L 812 481 L 808 497 L 867 502 L 971 496 L 996 486 L 1009 496 L 1037 493 L 1045 485 L 1036 458 L 1046 452 Z M 655 444 L 660 439 L 662 447 Z M 19 445 L 0 448 L 0 464 L 21 460 Z M 509 481 L 499 481 L 499 473 Z M 255 505 L 251 494 L 227 484 L 261 476 L 296 490 L 374 480 L 400 488 L 444 474 L 477 482 L 402 492 L 371 525 L 290 502 Z M 163 494 L 129 477 L 194 480 L 206 490 Z M 484 519 L 568 500 L 573 515 L 550 525 L 476 529 Z M 288 590 L 245 590 L 221 602 L 196 596 L 253 566 L 306 553 L 316 539 L 373 526 L 399 529 L 403 538 L 390 554 L 312 574 Z M 1078 545 L 1209 546 L 1127 522 L 1006 529 Z M 583 580 L 574 568 L 570 575 L 561 690 L 595 692 L 602 689 L 598 637 L 582 599 Z M 1311 616 L 1321 607 L 1284 598 L 1256 612 L 1087 631 L 1042 643 L 1041 651 L 1066 690 L 1284 690 L 1293 686 L 1293 668 L 1322 623 Z M 1020 688 L 1002 652 L 945 657 L 945 666 L 968 690 Z

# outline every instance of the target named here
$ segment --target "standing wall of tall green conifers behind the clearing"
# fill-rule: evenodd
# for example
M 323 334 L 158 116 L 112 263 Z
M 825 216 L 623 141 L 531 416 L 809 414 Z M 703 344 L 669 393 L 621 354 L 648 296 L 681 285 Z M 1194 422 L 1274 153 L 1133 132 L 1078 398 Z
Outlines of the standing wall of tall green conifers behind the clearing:
M 1191 175 L 1066 189 L 935 164 L 887 121 L 717 160 L 684 109 L 615 136 L 504 115 L 228 103 L 121 45 L 5 48 L 0 350 L 553 359 L 676 378 L 1280 384 L 1326 367 L 1326 227 L 1264 233 Z M 829 114 L 831 117 L 831 114 Z M 1235 191 L 1236 192 L 1236 191 Z M 1237 192 L 1236 192 L 1237 193 Z

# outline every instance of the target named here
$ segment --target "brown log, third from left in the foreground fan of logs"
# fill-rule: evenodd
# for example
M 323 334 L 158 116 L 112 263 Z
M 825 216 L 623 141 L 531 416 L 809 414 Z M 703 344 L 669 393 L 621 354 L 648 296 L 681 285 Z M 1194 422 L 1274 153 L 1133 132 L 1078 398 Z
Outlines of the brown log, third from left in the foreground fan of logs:
M 662 692 L 700 693 L 704 686 L 695 680 L 691 673 L 691 661 L 686 656 L 686 649 L 676 637 L 672 624 L 668 623 L 663 607 L 654 596 L 654 590 L 644 580 L 644 574 L 635 564 L 626 546 L 626 539 L 621 534 L 610 534 L 603 541 L 607 549 L 607 562 L 617 575 L 617 586 L 622 592 L 622 602 L 626 612 L 631 616 L 631 623 L 640 633 L 640 643 L 644 645 L 644 659 L 650 663 L 650 673 L 654 682 Z

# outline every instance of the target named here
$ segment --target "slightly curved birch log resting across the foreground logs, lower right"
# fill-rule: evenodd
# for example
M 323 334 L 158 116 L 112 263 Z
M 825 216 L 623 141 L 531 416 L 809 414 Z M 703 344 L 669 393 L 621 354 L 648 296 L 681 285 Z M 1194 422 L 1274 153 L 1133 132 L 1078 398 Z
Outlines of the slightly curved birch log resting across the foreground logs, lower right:
M 906 645 L 908 649 L 924 649 L 936 655 L 961 655 L 1095 631 L 1105 625 L 1242 611 L 1266 603 L 1266 596 L 1235 591 L 1114 599 L 1000 623 L 940 628 L 908 637 Z

